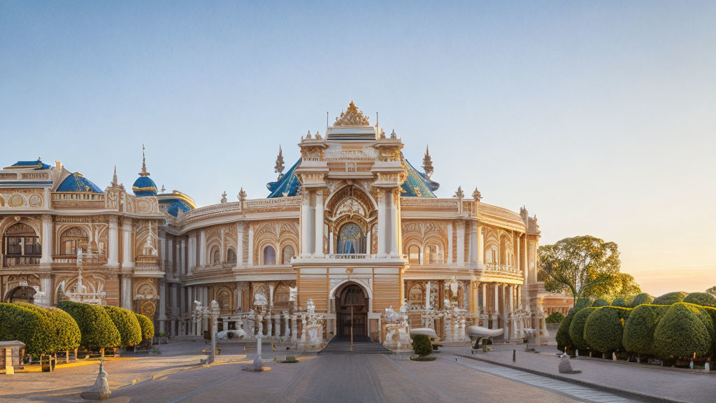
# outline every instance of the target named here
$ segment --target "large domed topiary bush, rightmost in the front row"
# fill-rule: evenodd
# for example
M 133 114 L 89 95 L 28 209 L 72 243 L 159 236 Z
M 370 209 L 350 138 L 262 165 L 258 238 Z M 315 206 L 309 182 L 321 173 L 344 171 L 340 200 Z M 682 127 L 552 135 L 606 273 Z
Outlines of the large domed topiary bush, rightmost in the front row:
M 709 356 L 713 332 L 714 325 L 706 310 L 697 305 L 674 303 L 654 331 L 654 351 L 662 358 L 689 358 L 694 353 L 697 358 Z

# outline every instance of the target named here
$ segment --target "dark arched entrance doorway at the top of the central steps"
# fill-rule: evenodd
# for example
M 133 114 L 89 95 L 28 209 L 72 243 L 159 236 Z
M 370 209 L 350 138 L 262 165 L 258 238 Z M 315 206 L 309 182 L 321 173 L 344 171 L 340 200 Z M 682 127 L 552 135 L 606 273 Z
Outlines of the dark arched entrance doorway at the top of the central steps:
M 362 337 L 368 335 L 368 300 L 363 289 L 357 284 L 349 284 L 336 298 L 337 336 Z

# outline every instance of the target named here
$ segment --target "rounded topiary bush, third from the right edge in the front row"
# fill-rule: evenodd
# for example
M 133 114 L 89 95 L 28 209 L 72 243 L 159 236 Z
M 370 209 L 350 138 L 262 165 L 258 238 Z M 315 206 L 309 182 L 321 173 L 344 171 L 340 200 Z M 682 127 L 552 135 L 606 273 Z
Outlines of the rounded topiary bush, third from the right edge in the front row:
M 630 308 L 602 306 L 594 310 L 584 323 L 584 340 L 592 350 L 602 353 L 621 351 L 624 335 L 624 319 L 629 318 Z

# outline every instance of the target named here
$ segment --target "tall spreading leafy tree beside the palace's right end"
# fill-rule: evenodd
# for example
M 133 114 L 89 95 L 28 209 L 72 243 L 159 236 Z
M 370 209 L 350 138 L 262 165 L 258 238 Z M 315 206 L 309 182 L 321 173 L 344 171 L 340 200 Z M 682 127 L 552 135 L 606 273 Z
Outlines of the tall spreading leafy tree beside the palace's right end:
M 546 290 L 569 290 L 574 303 L 609 293 L 621 264 L 616 243 L 589 235 L 543 245 L 538 254 Z

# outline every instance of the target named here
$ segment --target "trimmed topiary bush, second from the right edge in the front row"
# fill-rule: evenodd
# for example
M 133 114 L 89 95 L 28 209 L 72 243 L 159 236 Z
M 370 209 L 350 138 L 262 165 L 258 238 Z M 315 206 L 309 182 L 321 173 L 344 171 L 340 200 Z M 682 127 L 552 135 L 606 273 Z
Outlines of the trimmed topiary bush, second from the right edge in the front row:
M 624 336 L 621 343 L 624 349 L 637 354 L 654 355 L 654 331 L 668 305 L 642 304 L 629 313 L 624 323 Z

